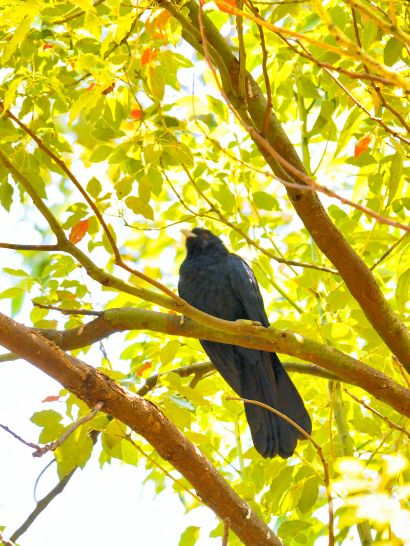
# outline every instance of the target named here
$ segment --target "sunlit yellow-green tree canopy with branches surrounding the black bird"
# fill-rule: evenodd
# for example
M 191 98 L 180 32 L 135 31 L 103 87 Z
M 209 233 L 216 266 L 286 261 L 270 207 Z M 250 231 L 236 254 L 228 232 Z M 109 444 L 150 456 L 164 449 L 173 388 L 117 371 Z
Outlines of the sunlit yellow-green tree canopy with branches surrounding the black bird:
M 2 3 L 0 360 L 62 386 L 31 418 L 57 488 L 97 450 L 224 545 L 410 540 L 409 23 L 397 0 Z M 176 294 L 195 225 L 271 328 Z M 256 453 L 198 339 L 279 353 L 313 421 L 291 459 Z

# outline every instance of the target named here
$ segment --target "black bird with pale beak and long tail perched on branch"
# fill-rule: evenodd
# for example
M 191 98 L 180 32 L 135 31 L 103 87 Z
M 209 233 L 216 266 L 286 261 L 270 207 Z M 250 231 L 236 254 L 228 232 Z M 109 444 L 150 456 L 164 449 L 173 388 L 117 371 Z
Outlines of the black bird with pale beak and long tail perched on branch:
M 227 250 L 207 229 L 182 229 L 186 258 L 179 270 L 178 292 L 190 305 L 226 321 L 269 322 L 255 275 L 244 260 Z M 303 401 L 275 353 L 200 340 L 216 370 L 242 398 L 275 408 L 311 434 Z M 256 450 L 265 458 L 286 459 L 304 436 L 293 425 L 261 406 L 245 403 Z

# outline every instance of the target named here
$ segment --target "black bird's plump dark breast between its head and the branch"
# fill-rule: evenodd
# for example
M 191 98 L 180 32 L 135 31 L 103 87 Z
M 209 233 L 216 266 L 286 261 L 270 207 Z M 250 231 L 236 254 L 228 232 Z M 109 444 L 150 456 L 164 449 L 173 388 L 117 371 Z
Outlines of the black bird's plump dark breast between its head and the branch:
M 190 305 L 214 317 L 226 321 L 246 318 L 243 306 L 233 292 L 224 259 L 214 262 L 185 260 L 179 271 L 178 292 Z

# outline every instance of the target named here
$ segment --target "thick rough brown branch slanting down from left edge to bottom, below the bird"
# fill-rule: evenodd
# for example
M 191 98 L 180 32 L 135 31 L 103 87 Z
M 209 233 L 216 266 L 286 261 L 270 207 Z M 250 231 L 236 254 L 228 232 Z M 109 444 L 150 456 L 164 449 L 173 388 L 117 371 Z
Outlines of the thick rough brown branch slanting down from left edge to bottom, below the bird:
M 71 357 L 44 337 L 0 313 L 0 343 L 54 377 L 90 407 L 104 411 L 142 435 L 195 488 L 197 495 L 245 546 L 282 546 L 278 537 L 239 497 L 221 474 L 151 402 L 134 395 L 99 370 Z

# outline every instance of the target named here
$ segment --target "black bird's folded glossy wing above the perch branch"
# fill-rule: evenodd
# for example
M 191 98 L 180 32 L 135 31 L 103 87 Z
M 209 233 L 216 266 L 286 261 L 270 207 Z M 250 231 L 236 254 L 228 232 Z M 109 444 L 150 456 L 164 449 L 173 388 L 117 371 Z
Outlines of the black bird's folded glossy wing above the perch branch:
M 249 320 L 258 321 L 262 326 L 268 327 L 268 317 L 254 272 L 236 254 L 229 254 L 227 262 L 231 286 L 236 297 L 241 301 Z

